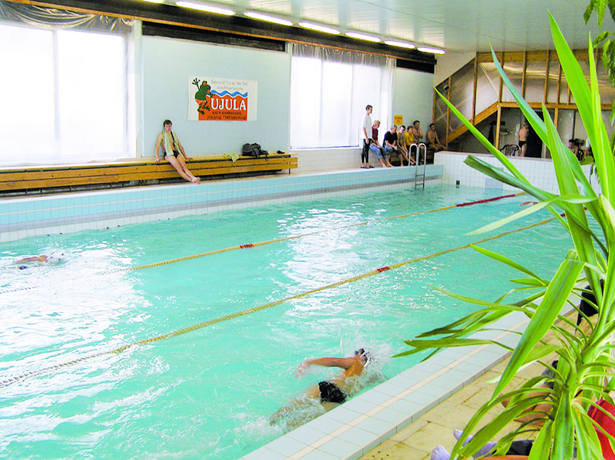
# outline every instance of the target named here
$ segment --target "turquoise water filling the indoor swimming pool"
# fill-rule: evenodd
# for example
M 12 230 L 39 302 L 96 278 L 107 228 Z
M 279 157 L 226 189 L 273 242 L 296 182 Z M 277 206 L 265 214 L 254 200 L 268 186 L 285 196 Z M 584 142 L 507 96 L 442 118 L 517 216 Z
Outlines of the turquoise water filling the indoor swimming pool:
M 335 228 L 497 194 L 408 189 L 0 245 L 0 381 L 478 240 L 483 236 L 464 233 L 517 212 L 528 198 Z M 547 217 L 539 212 L 501 231 Z M 484 246 L 549 277 L 570 243 L 549 223 Z M 24 270 L 13 263 L 50 250 L 61 250 L 64 260 Z M 376 384 L 419 359 L 387 359 L 405 349 L 404 339 L 474 309 L 431 285 L 494 299 L 518 277 L 506 270 L 496 276 L 501 272 L 464 249 L 20 379 L 0 387 L 0 457 L 239 458 L 284 432 L 269 426 L 271 413 L 331 375 L 296 379 L 302 360 L 371 347 L 378 363 L 364 383 Z

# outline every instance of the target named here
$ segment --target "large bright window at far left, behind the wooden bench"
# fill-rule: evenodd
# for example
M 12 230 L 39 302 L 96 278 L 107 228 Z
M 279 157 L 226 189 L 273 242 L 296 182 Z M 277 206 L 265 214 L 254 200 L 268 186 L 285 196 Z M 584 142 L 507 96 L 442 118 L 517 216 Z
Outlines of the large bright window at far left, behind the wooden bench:
M 0 164 L 135 155 L 127 34 L 4 22 L 0 42 Z

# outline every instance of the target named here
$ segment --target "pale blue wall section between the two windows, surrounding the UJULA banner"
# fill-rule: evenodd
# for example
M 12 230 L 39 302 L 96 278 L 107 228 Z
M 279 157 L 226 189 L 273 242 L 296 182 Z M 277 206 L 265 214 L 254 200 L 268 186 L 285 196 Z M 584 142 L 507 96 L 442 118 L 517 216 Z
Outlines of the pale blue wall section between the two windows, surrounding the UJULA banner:
M 170 119 L 186 153 L 240 153 L 257 142 L 269 151 L 288 151 L 290 55 L 285 52 L 210 45 L 144 36 L 143 156 L 153 156 L 162 122 Z M 188 121 L 188 77 L 258 81 L 256 121 Z

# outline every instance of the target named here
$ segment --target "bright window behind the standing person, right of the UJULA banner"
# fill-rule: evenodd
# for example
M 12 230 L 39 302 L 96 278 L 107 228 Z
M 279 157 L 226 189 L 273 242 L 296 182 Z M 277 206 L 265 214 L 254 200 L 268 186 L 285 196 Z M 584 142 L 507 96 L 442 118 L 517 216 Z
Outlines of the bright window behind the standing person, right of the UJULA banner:
M 391 113 L 393 60 L 293 44 L 290 83 L 290 146 L 359 146 L 370 104 L 372 120 L 386 126 Z

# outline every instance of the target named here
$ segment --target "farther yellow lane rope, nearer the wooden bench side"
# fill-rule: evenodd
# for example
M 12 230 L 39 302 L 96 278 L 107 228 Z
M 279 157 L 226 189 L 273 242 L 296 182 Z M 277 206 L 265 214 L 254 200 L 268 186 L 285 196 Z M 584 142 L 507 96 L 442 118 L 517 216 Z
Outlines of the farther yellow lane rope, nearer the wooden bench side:
M 410 214 L 403 214 L 403 215 L 400 215 L 400 216 L 383 217 L 381 219 L 369 220 L 369 221 L 365 221 L 365 222 L 360 222 L 358 224 L 349 224 L 349 225 L 344 225 L 344 226 L 340 226 L 340 227 L 333 227 L 333 228 L 318 230 L 318 231 L 309 232 L 309 233 L 302 233 L 300 235 L 295 235 L 295 236 L 288 236 L 288 237 L 284 237 L 284 238 L 276 238 L 276 239 L 272 239 L 272 240 L 260 241 L 260 242 L 257 242 L 257 243 L 241 244 L 241 245 L 237 245 L 237 246 L 231 246 L 231 247 L 228 247 L 228 248 L 221 248 L 221 249 L 216 249 L 216 250 L 213 250 L 213 251 L 202 252 L 200 254 L 194 254 L 194 255 L 185 256 L 185 257 L 178 257 L 178 258 L 175 258 L 175 259 L 164 260 L 164 261 L 161 261 L 161 262 L 154 262 L 154 263 L 151 263 L 151 264 L 139 265 L 139 266 L 136 266 L 136 267 L 124 267 L 124 268 L 118 268 L 118 269 L 114 269 L 114 270 L 107 270 L 107 271 L 97 272 L 97 273 L 94 274 L 94 276 L 109 275 L 109 274 L 113 274 L 113 273 L 129 272 L 129 271 L 135 271 L 135 270 L 142 270 L 142 269 L 145 269 L 145 268 L 160 267 L 160 266 L 163 266 L 163 265 L 168 265 L 168 264 L 173 264 L 173 263 L 177 263 L 177 262 L 182 262 L 182 261 L 185 261 L 185 260 L 197 259 L 197 258 L 200 258 L 200 257 L 211 256 L 211 255 L 220 254 L 220 253 L 223 253 L 223 252 L 235 251 L 235 250 L 238 250 L 238 249 L 255 248 L 255 247 L 264 246 L 264 245 L 268 245 L 268 244 L 272 244 L 272 243 L 279 243 L 279 242 L 282 242 L 282 241 L 303 238 L 305 236 L 317 235 L 319 233 L 324 233 L 324 232 L 329 232 L 329 231 L 342 230 L 342 229 L 352 228 L 352 227 L 359 227 L 359 226 L 362 226 L 362 225 L 367 225 L 367 224 L 376 223 L 376 222 L 383 222 L 383 221 L 387 221 L 387 220 L 407 218 L 407 217 L 415 216 L 415 215 L 418 215 L 418 214 L 427 214 L 427 213 L 431 213 L 431 212 L 445 211 L 447 209 L 451 209 L 451 208 L 455 208 L 455 207 L 465 207 L 465 206 L 470 206 L 470 205 L 474 205 L 474 204 L 481 204 L 481 203 L 501 200 L 501 199 L 504 199 L 504 198 L 510 198 L 510 197 L 514 197 L 514 196 L 519 196 L 519 195 L 522 195 L 524 193 L 525 192 L 518 192 L 518 193 L 514 193 L 514 194 L 510 194 L 510 195 L 503 195 L 503 196 L 497 196 L 497 197 L 493 197 L 493 198 L 486 198 L 486 199 L 483 199 L 483 200 L 475 200 L 475 201 L 470 201 L 470 202 L 466 202 L 466 203 L 453 204 L 453 205 L 449 205 L 449 206 L 445 206 L 445 207 L 441 207 L 441 208 L 429 209 L 429 210 L 426 210 L 426 211 L 416 211 L 416 212 L 413 212 L 413 213 L 410 213 Z M 0 291 L 0 294 L 8 294 L 8 293 L 18 292 L 18 291 L 26 291 L 26 290 L 30 290 L 30 289 L 36 289 L 38 287 L 40 287 L 40 286 L 38 286 L 38 285 L 30 285 L 30 286 L 25 286 L 25 287 L 21 287 L 21 288 L 12 289 L 12 290 Z

